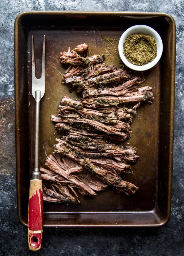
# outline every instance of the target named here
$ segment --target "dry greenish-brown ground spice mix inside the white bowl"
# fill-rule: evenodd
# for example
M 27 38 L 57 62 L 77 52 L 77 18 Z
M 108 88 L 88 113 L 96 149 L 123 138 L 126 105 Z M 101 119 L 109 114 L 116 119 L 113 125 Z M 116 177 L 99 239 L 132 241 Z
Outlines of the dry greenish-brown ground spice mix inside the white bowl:
M 150 63 L 157 55 L 157 45 L 151 35 L 143 33 L 129 35 L 123 44 L 126 59 L 137 66 Z

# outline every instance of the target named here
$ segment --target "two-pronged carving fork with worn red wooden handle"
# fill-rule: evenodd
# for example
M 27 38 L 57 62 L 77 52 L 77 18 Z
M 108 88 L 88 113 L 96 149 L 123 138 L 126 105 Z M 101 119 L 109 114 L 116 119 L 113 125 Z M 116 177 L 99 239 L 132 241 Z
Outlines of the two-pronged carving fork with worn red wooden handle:
M 43 195 L 42 180 L 38 168 L 38 142 L 39 142 L 39 112 L 40 100 L 45 93 L 45 35 L 42 54 L 41 78 L 35 75 L 34 45 L 32 35 L 32 95 L 36 101 L 36 121 L 35 121 L 35 168 L 31 176 L 29 187 L 29 207 L 28 207 L 28 243 L 30 250 L 39 250 L 42 244 L 43 235 Z

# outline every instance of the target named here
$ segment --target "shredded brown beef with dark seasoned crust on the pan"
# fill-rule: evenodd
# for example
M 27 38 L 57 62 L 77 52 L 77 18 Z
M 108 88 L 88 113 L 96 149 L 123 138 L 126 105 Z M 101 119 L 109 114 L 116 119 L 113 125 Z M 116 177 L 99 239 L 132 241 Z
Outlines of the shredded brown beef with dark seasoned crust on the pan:
M 120 143 L 131 136 L 136 109 L 152 102 L 152 88 L 139 87 L 145 81 L 142 73 L 107 65 L 105 55 L 86 57 L 87 50 L 83 43 L 60 52 L 67 67 L 62 82 L 82 100 L 63 96 L 51 116 L 62 134 L 45 160 L 49 170 L 40 168 L 46 202 L 77 204 L 78 193 L 95 196 L 109 186 L 127 195 L 138 189 L 122 178 L 139 159 L 136 147 Z

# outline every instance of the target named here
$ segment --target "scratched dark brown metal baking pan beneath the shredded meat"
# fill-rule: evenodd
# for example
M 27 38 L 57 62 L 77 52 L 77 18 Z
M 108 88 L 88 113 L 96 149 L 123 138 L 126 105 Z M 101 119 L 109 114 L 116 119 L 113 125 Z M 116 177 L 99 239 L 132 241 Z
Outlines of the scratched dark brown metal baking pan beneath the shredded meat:
M 139 161 L 125 180 L 139 186 L 133 196 L 108 189 L 80 205 L 44 204 L 44 227 L 158 227 L 167 223 L 171 210 L 175 23 L 162 13 L 130 12 L 25 12 L 17 16 L 15 43 L 15 116 L 18 218 L 27 225 L 30 173 L 34 168 L 34 98 L 31 95 L 31 36 L 34 35 L 36 74 L 41 71 L 43 36 L 46 36 L 45 95 L 40 105 L 39 165 L 52 152 L 56 133 L 51 114 L 63 95 L 80 99 L 61 84 L 64 69 L 59 52 L 88 43 L 89 54 L 109 53 L 106 63 L 119 65 L 118 41 L 130 26 L 151 26 L 163 40 L 163 54 L 155 67 L 144 72 L 144 86 L 153 87 L 152 104 L 138 108 L 132 137 Z M 111 37 L 114 42 L 104 38 Z M 108 55 L 108 54 L 107 54 Z

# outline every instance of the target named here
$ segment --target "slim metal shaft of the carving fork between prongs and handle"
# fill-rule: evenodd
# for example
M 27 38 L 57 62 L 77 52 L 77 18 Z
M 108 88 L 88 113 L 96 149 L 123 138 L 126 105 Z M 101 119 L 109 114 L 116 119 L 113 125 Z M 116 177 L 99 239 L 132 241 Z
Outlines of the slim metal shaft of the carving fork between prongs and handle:
M 36 118 L 35 118 L 35 168 L 32 173 L 32 180 L 40 180 L 40 172 L 38 169 L 38 144 L 39 144 L 39 114 L 40 114 L 41 91 L 35 91 L 36 102 Z

